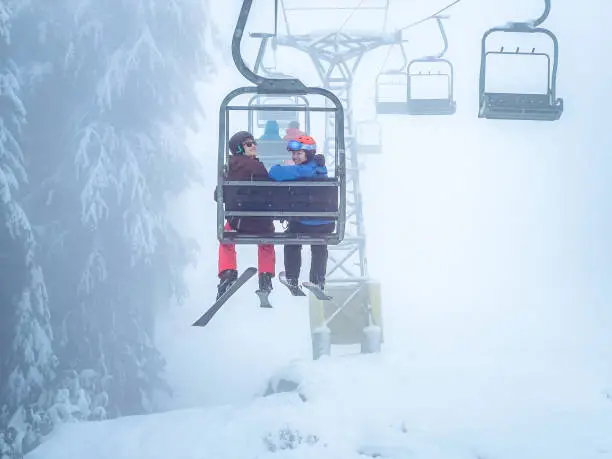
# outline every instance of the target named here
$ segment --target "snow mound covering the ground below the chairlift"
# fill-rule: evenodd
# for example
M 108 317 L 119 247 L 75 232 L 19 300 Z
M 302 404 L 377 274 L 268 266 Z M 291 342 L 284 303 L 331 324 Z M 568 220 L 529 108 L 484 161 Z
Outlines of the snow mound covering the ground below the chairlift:
M 65 425 L 27 459 L 611 457 L 612 404 L 586 380 L 486 368 L 391 353 L 295 361 L 253 400 Z

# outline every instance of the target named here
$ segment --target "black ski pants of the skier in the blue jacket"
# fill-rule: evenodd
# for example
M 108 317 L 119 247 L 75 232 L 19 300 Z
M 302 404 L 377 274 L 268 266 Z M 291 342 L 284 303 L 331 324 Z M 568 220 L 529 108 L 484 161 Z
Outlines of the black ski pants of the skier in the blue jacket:
M 329 234 L 334 231 L 335 223 L 323 225 L 305 225 L 298 221 L 289 222 L 288 233 Z M 310 245 L 310 282 L 317 285 L 325 284 L 327 273 L 327 245 Z M 298 279 L 302 268 L 302 245 L 285 245 L 285 273 L 287 279 Z

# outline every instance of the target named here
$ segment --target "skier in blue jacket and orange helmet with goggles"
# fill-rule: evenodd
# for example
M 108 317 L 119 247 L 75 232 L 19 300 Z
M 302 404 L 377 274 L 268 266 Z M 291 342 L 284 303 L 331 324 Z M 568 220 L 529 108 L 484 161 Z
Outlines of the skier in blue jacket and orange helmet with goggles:
M 276 181 L 317 179 L 327 177 L 325 157 L 317 155 L 317 144 L 310 136 L 299 136 L 287 143 L 287 150 L 291 152 L 291 160 L 281 165 L 272 166 L 268 175 Z M 300 218 L 289 220 L 288 233 L 329 234 L 334 231 L 333 220 L 317 218 Z M 285 274 L 294 295 L 299 293 L 299 276 L 302 267 L 302 245 L 287 244 L 285 253 Z M 321 290 L 325 287 L 327 273 L 327 245 L 312 244 L 310 247 L 310 282 Z

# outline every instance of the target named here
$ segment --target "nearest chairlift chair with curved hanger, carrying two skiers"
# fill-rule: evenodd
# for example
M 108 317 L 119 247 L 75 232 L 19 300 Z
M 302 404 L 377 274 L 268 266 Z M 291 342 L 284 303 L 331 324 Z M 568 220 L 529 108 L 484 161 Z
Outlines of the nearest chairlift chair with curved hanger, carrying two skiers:
M 297 78 L 275 79 L 258 75 L 248 68 L 240 49 L 242 36 L 253 0 L 243 0 L 232 39 L 232 57 L 238 71 L 255 86 L 236 88 L 225 96 L 219 107 L 219 143 L 217 164 L 217 239 L 222 244 L 329 244 L 337 245 L 344 239 L 346 220 L 346 154 L 344 151 L 344 108 L 340 99 L 331 91 L 306 87 Z M 232 104 L 242 95 L 269 97 L 320 96 L 322 106 L 287 106 L 274 104 Z M 244 126 L 232 127 L 229 116 L 232 111 L 249 113 L 261 111 L 332 112 L 335 117 L 333 145 L 327 145 L 334 153 L 334 174 L 324 180 L 229 181 L 226 178 L 229 160 L 229 138 Z M 333 220 L 334 232 L 326 235 L 292 234 L 288 232 L 267 234 L 243 234 L 226 231 L 228 217 L 272 217 L 274 220 L 313 217 Z

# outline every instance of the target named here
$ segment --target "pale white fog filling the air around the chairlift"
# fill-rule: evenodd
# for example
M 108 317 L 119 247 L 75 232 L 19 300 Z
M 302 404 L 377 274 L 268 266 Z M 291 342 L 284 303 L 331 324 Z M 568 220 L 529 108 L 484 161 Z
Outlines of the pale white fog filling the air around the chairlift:
M 264 3 L 254 2 L 254 11 Z M 446 4 L 391 3 L 394 27 Z M 369 273 L 382 284 L 383 352 L 423 359 L 448 370 L 447 377 L 503 379 L 512 372 L 544 384 L 575 378 L 603 391 L 610 379 L 612 325 L 612 141 L 606 119 L 612 103 L 611 39 L 604 21 L 612 6 L 603 0 L 553 2 L 543 27 L 560 44 L 557 95 L 565 110 L 559 121 L 477 117 L 482 34 L 511 20 L 537 17 L 540 3 L 464 0 L 449 9 L 445 57 L 455 68 L 457 113 L 376 118 L 384 151 L 363 158 L 361 174 Z M 311 358 L 307 302 L 290 297 L 276 279 L 273 311 L 258 310 L 255 287 L 249 285 L 209 327 L 188 327 L 214 301 L 218 282 L 212 192 L 219 103 L 233 88 L 250 84 L 230 58 L 238 7 L 219 3 L 216 8 L 227 48 L 219 50 L 216 77 L 201 83 L 207 117 L 190 139 L 205 166 L 205 186 L 184 194 L 172 214 L 181 232 L 202 249 L 198 265 L 187 273 L 187 304 L 165 313 L 157 336 L 176 388 L 173 407 L 249 399 L 276 368 Z M 269 19 L 263 8 L 256 25 Z M 329 25 L 320 20 L 317 28 L 342 24 L 328 19 Z M 342 27 L 363 26 L 356 17 L 353 21 Z M 304 16 L 299 22 L 313 21 Z M 438 50 L 435 24 L 407 32 L 415 56 Z M 253 62 L 255 55 L 246 55 L 250 48 L 245 45 L 245 58 Z M 357 121 L 375 118 L 375 78 L 386 54 L 387 49 L 369 53 L 356 73 Z M 279 69 L 321 85 L 304 55 L 279 49 L 277 59 Z M 534 66 L 529 77 L 533 81 L 525 79 L 527 85 L 542 77 L 535 74 L 538 69 Z M 511 70 L 501 68 L 498 74 Z M 254 263 L 255 256 L 255 247 L 240 246 L 239 269 Z M 282 270 L 280 247 L 277 269 Z

